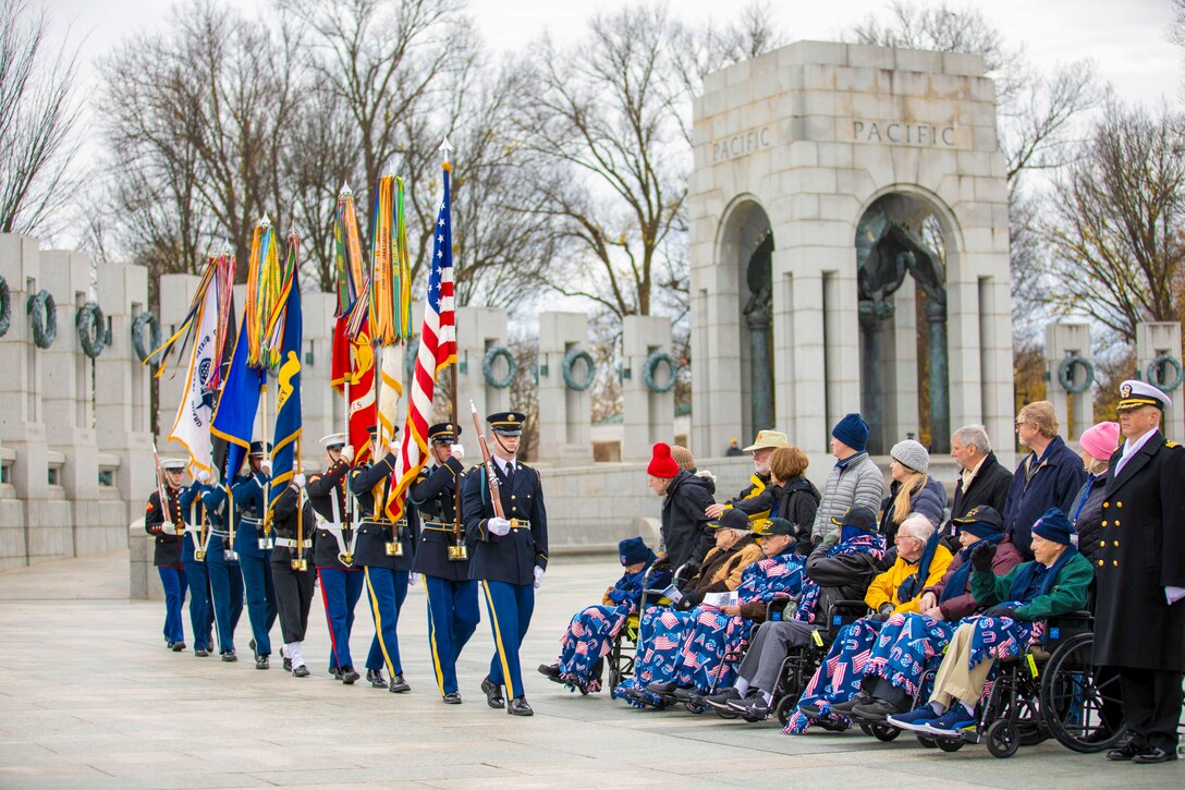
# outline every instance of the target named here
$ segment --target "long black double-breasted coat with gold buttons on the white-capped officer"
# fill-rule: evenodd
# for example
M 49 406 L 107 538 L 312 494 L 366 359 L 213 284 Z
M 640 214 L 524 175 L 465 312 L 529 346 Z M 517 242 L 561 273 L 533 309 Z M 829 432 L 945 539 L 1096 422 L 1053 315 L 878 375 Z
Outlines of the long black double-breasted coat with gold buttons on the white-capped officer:
M 1095 663 L 1185 671 L 1185 600 L 1165 600 L 1165 587 L 1185 587 L 1185 450 L 1157 433 L 1116 474 L 1121 454 L 1094 561 Z

